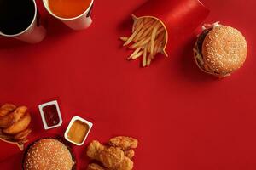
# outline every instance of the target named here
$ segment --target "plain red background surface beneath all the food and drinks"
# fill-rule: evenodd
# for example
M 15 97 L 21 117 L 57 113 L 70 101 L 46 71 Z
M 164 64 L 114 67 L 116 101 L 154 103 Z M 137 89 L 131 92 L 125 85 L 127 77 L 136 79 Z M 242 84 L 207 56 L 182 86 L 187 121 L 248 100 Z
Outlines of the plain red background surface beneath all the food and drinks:
M 118 37 L 130 34 L 130 14 L 143 2 L 96 0 L 95 22 L 86 31 L 70 31 L 41 8 L 48 18 L 44 42 L 27 45 L 1 38 L 0 103 L 31 108 L 32 139 L 63 134 L 77 115 L 94 122 L 86 144 L 134 136 L 140 141 L 135 169 L 255 169 L 256 2 L 202 1 L 211 9 L 207 21 L 220 20 L 247 37 L 245 66 L 221 80 L 194 64 L 195 37 L 149 68 L 126 61 L 131 51 L 121 48 Z M 64 123 L 44 131 L 38 104 L 51 99 L 59 101 Z M 87 165 L 85 148 L 73 146 L 79 169 Z M 1 169 L 20 169 L 21 157 L 1 162 Z

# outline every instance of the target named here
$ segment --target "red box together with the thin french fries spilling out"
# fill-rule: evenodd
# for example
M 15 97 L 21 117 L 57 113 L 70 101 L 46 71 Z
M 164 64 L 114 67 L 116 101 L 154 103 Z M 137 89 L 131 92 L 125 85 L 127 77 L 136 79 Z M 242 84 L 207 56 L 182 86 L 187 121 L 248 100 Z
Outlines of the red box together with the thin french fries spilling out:
M 158 54 L 168 56 L 206 19 L 209 10 L 198 0 L 149 0 L 132 14 L 129 37 L 120 37 L 134 50 L 128 60 L 149 66 Z

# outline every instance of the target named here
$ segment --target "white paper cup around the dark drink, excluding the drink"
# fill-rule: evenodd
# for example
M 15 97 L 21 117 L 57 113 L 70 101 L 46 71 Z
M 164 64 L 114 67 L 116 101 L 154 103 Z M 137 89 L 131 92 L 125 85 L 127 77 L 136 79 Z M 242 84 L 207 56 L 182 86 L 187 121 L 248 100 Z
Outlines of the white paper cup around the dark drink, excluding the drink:
M 44 26 L 41 25 L 40 23 L 40 16 L 38 13 L 38 8 L 35 0 L 31 0 L 34 3 L 34 17 L 31 22 L 31 24 L 26 28 L 26 30 L 21 31 L 20 33 L 14 34 L 14 35 L 8 35 L 4 34 L 3 32 L 0 31 L 0 35 L 3 37 L 13 37 L 15 39 L 18 39 L 23 42 L 28 42 L 28 43 L 38 43 L 41 42 L 44 37 L 46 36 L 46 30 Z M 9 9 L 11 10 L 11 9 Z

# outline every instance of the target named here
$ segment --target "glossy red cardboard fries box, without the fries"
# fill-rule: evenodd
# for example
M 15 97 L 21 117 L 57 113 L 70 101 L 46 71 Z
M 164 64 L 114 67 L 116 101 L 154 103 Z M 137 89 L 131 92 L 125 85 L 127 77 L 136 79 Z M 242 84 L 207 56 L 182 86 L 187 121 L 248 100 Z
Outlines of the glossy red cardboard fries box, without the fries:
M 133 13 L 133 18 L 160 20 L 166 29 L 163 54 L 168 56 L 172 48 L 188 38 L 208 14 L 209 10 L 198 0 L 149 0 Z

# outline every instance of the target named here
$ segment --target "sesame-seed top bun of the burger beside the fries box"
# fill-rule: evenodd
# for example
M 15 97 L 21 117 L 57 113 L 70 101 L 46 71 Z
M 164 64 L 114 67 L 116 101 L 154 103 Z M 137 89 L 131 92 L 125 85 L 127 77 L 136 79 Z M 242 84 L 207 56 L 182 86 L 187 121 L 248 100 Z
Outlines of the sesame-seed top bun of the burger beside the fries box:
M 247 42 L 240 31 L 230 26 L 214 27 L 202 45 L 202 55 L 212 71 L 228 75 L 247 58 Z

